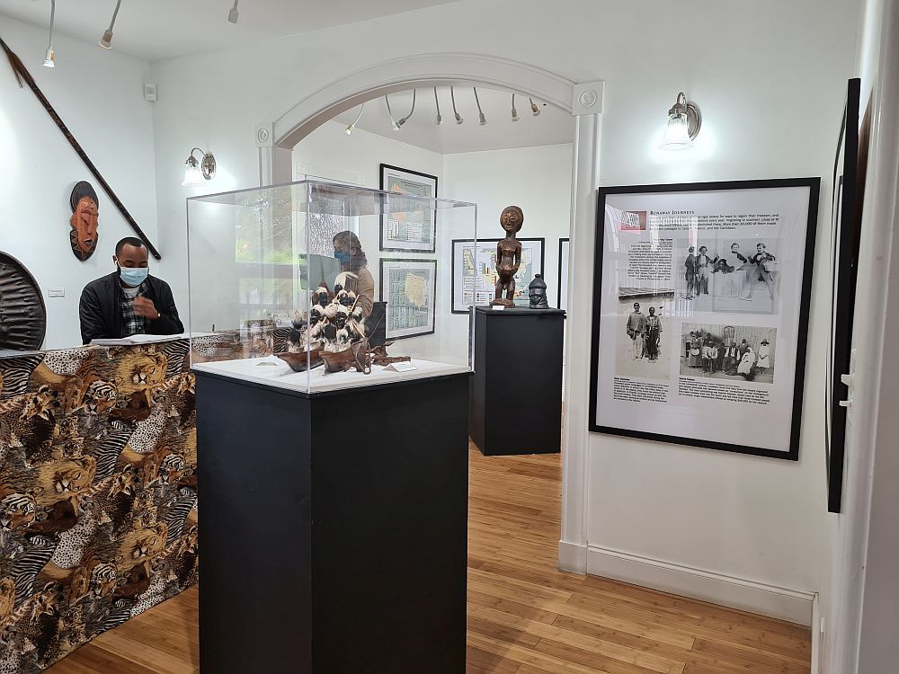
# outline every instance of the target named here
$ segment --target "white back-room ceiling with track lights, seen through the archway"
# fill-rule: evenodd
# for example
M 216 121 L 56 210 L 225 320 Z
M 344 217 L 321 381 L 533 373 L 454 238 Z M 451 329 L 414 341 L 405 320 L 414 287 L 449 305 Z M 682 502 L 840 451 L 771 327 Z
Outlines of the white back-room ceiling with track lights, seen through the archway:
M 477 114 L 475 94 L 470 86 L 455 87 L 456 108 L 463 123 L 458 125 L 452 110 L 449 87 L 438 87 L 443 124 L 435 123 L 437 107 L 434 90 L 418 89 L 415 111 L 399 131 L 394 131 L 387 113 L 384 97 L 365 103 L 362 117 L 356 125 L 371 133 L 423 147 L 441 155 L 482 150 L 502 150 L 512 147 L 556 145 L 574 141 L 574 118 L 552 105 L 535 101 L 539 117 L 534 117 L 527 96 L 516 95 L 515 107 L 519 121 L 512 122 L 512 93 L 477 87 L 487 123 L 481 126 Z M 409 114 L 412 92 L 390 94 L 390 108 L 395 120 Z M 356 119 L 359 108 L 344 112 L 334 120 L 347 125 Z

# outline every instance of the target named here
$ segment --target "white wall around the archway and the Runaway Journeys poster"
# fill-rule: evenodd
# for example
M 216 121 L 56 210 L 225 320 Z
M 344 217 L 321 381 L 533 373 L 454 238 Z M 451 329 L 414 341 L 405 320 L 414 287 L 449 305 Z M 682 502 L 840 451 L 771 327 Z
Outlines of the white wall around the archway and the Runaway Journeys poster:
M 797 463 L 592 435 L 582 542 L 643 559 L 797 590 L 829 585 L 823 458 L 827 221 L 832 153 L 852 74 L 859 7 L 845 0 L 465 0 L 252 48 L 154 64 L 158 208 L 183 237 L 178 169 L 211 146 L 208 191 L 253 186 L 254 125 L 364 64 L 469 52 L 527 61 L 576 82 L 604 80 L 601 182 L 643 184 L 822 176 L 817 273 Z M 402 35 L 402 40 L 385 40 Z M 503 36 L 513 39 L 501 39 Z M 690 154 L 655 149 L 679 90 L 704 115 Z M 200 102 L 202 104 L 200 104 Z M 576 236 L 576 233 L 575 233 Z M 169 276 L 183 259 L 170 256 Z M 592 270 L 572 306 L 589 311 Z M 583 362 L 589 352 L 581 354 Z M 586 395 L 586 377 L 583 377 Z

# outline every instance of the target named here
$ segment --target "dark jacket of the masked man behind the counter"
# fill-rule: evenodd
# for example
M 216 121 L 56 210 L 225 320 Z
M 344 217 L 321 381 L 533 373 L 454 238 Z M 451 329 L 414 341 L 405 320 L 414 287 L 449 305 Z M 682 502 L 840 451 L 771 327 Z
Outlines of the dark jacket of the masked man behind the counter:
M 184 332 L 184 325 L 178 318 L 174 306 L 172 288 L 163 279 L 147 276 L 147 291 L 144 297 L 153 300 L 159 318 L 147 320 L 147 334 L 178 334 Z M 91 340 L 120 339 L 121 295 L 119 272 L 91 281 L 81 292 L 81 339 L 87 344 Z

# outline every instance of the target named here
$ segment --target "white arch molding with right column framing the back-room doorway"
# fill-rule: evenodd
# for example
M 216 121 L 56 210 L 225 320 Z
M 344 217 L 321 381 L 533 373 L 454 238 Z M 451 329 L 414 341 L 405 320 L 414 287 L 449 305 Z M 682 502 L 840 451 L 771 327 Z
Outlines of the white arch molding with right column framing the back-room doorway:
M 565 350 L 565 421 L 562 537 L 559 567 L 586 572 L 589 375 L 592 251 L 599 186 L 602 82 L 575 84 L 539 67 L 477 54 L 423 54 L 397 58 L 346 75 L 303 100 L 285 105 L 254 129 L 260 185 L 290 182 L 293 147 L 325 121 L 362 102 L 411 87 L 472 84 L 537 98 L 574 115 L 571 258 L 568 266 L 568 341 Z M 580 270 L 580 279 L 575 276 Z M 579 281 L 579 282 L 578 282 Z

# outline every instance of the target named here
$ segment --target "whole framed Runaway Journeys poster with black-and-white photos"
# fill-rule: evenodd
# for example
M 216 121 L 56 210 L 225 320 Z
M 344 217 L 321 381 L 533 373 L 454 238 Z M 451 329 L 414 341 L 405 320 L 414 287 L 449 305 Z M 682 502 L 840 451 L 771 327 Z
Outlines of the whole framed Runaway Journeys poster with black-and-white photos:
M 600 189 L 590 430 L 798 459 L 820 182 Z

